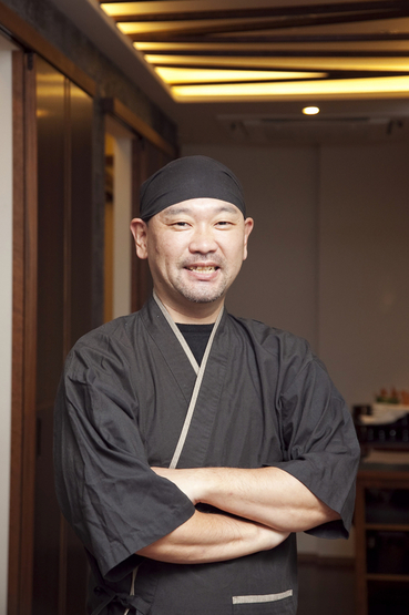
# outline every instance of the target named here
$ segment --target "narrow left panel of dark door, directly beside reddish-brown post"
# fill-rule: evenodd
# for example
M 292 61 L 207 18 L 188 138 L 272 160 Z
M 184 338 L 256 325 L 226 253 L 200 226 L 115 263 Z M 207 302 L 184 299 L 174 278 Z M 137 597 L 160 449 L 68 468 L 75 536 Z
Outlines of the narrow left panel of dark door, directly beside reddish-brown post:
M 38 350 L 33 615 L 58 613 L 60 513 L 52 471 L 52 412 L 63 360 L 65 79 L 37 62 Z

